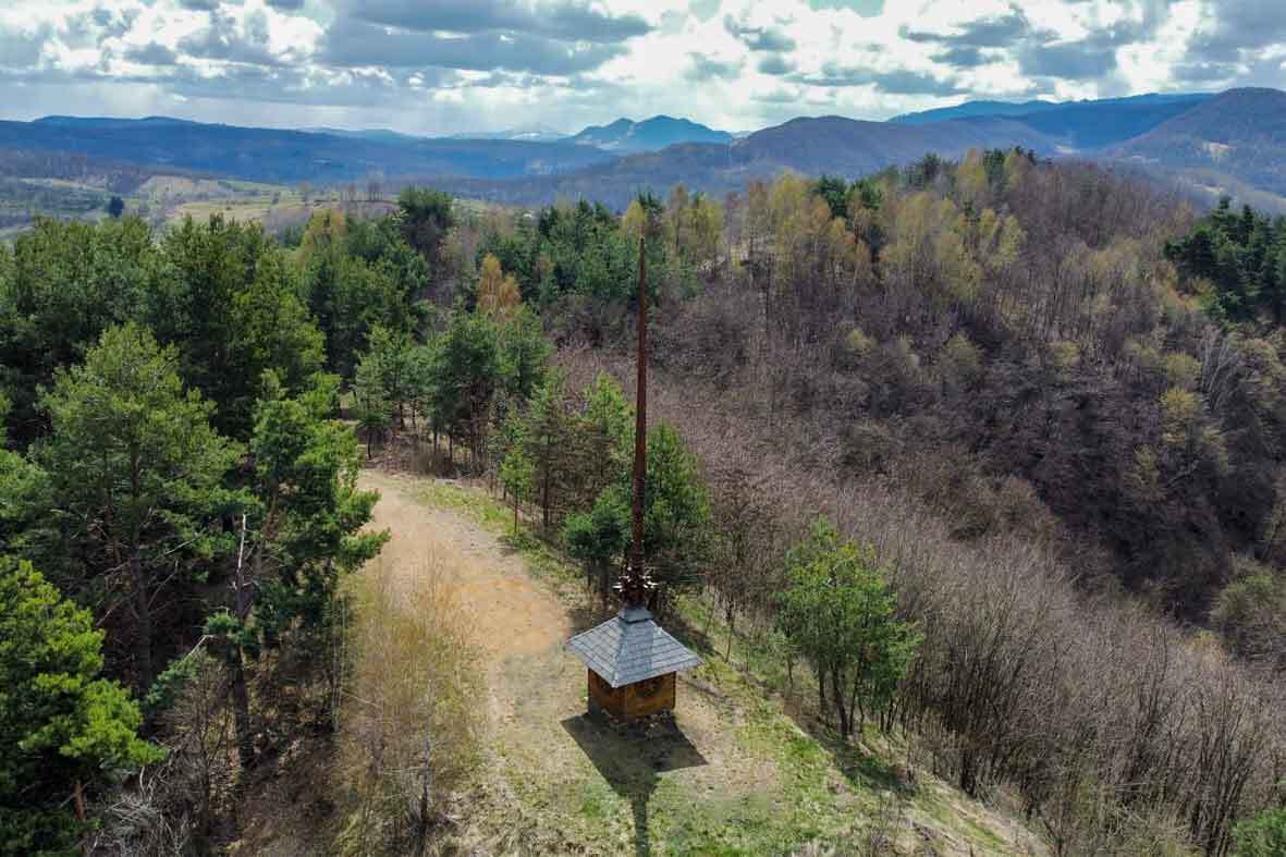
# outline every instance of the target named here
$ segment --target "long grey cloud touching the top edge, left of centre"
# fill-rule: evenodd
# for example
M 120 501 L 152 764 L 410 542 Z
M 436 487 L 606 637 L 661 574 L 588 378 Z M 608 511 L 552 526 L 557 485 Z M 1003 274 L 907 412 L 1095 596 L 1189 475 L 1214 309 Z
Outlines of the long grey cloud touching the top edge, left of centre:
M 341 14 L 418 32 L 512 32 L 561 41 L 619 42 L 651 32 L 635 14 L 611 15 L 581 0 L 342 0 Z

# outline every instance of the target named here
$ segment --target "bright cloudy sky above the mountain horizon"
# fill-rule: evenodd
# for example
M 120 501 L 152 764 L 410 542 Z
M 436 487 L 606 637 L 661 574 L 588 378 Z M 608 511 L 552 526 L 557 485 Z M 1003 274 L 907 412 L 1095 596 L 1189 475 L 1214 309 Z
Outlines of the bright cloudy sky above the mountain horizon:
M 754 130 L 1286 89 L 1286 0 L 0 0 L 0 118 Z

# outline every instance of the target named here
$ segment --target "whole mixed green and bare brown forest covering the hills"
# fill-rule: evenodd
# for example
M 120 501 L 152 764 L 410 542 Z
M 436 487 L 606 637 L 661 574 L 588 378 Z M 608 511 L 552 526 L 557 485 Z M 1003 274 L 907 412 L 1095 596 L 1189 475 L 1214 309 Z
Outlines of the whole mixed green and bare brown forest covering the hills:
M 657 611 L 1053 853 L 1278 853 L 1286 220 L 1022 149 L 0 247 L 0 853 L 216 852 L 345 732 L 364 466 L 487 484 L 608 600 L 640 257 Z M 445 812 L 390 806 L 403 848 Z

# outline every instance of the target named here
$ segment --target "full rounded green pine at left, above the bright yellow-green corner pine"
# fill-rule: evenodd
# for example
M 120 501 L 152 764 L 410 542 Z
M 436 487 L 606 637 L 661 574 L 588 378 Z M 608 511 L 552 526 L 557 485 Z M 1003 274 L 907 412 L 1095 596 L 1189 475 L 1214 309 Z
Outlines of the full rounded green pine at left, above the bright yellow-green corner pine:
M 59 560 L 82 585 L 130 593 L 134 676 L 147 687 L 157 591 L 195 582 L 199 560 L 225 546 L 217 520 L 234 501 L 224 476 L 238 448 L 210 426 L 212 404 L 184 390 L 175 349 L 135 324 L 105 331 L 84 365 L 59 369 L 40 405 L 53 431 L 36 461 L 50 479 Z

